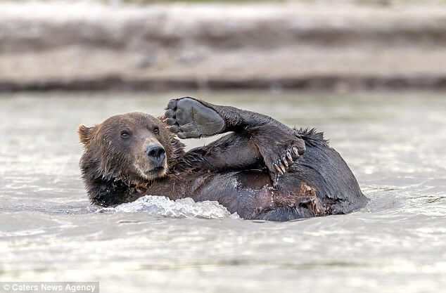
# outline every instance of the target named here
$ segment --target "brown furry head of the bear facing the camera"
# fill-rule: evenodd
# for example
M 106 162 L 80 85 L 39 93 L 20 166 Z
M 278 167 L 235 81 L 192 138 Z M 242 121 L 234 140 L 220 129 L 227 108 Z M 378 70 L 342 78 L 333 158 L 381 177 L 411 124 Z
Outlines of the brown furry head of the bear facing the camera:
M 184 149 L 167 124 L 141 112 L 115 115 L 91 127 L 81 125 L 78 133 L 87 185 L 94 181 L 139 185 L 163 177 Z

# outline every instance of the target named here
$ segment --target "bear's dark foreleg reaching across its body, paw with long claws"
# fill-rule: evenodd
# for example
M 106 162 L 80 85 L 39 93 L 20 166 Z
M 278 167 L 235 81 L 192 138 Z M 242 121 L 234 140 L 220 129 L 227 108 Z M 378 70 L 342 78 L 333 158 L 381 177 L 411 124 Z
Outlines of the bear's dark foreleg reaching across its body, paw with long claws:
M 246 170 L 267 168 L 273 184 L 279 182 L 302 155 L 305 142 L 277 129 L 257 126 L 243 132 L 227 134 L 203 148 L 190 150 L 182 157 L 195 162 L 194 167 L 207 170 Z M 199 157 L 200 159 L 195 159 Z

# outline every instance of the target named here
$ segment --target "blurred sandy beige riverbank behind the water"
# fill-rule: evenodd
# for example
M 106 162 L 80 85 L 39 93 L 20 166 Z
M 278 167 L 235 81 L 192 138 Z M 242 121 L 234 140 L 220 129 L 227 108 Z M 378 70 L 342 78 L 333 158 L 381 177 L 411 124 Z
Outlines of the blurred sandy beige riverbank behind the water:
M 0 91 L 446 89 L 444 6 L 0 4 Z

